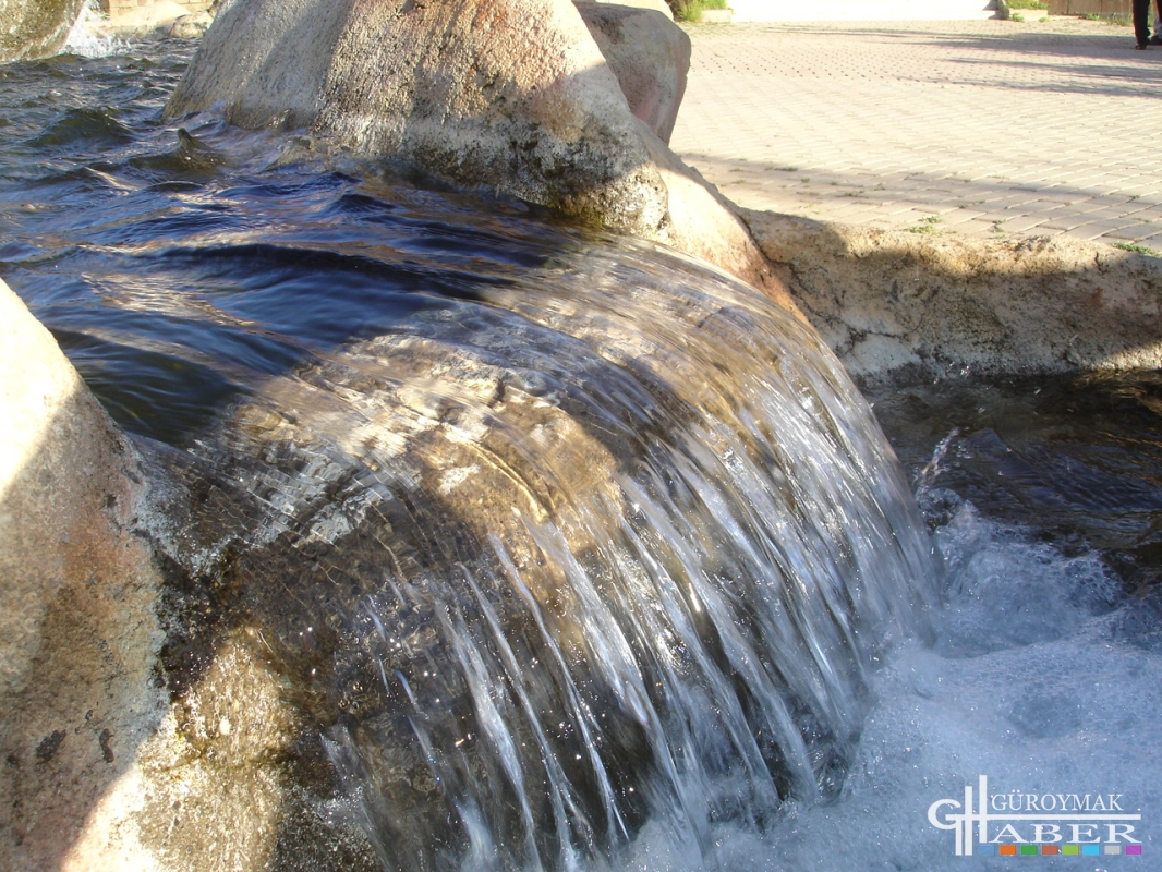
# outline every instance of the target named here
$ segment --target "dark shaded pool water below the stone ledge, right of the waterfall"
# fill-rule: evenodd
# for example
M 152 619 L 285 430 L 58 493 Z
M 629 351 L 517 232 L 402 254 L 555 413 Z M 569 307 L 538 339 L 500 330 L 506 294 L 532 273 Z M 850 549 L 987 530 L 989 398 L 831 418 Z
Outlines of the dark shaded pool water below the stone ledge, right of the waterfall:
M 868 392 L 934 524 L 961 500 L 1067 551 L 1099 549 L 1135 594 L 1162 566 L 1162 376 L 941 380 Z

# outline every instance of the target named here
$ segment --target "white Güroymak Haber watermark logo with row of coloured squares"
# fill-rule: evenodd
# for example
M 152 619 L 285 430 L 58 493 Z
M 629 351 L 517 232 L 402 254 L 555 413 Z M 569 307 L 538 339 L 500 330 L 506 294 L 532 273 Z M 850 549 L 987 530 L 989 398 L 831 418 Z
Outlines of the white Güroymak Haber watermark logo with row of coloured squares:
M 956 834 L 956 856 L 974 853 L 1140 855 L 1141 841 L 1120 793 L 989 793 L 981 775 L 975 794 L 928 806 L 928 823 Z

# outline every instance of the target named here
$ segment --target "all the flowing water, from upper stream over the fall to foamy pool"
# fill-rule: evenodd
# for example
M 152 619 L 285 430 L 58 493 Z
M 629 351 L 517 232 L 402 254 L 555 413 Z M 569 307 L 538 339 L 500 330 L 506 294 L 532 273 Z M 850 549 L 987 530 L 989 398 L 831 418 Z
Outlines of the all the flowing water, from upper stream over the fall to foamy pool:
M 260 639 L 385 869 L 962 869 L 980 774 L 1150 851 L 1148 380 L 884 392 L 921 517 L 748 288 L 163 123 L 191 47 L 110 48 L 0 67 L 0 277 L 184 494 L 173 693 Z

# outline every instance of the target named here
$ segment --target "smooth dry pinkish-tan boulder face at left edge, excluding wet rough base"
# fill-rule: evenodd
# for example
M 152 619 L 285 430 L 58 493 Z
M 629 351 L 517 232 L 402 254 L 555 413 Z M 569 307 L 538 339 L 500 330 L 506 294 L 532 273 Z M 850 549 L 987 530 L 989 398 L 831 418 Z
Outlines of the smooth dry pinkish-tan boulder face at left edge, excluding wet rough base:
M 0 281 L 0 869 L 105 867 L 86 821 L 160 717 L 139 458 Z

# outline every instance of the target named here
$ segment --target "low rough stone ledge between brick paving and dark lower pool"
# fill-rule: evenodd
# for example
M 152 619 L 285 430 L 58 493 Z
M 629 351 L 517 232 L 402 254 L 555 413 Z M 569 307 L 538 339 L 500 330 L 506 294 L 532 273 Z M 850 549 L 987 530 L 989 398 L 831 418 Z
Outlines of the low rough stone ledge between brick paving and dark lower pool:
M 1162 366 L 1160 258 L 1063 236 L 928 236 L 738 212 L 858 379 Z

